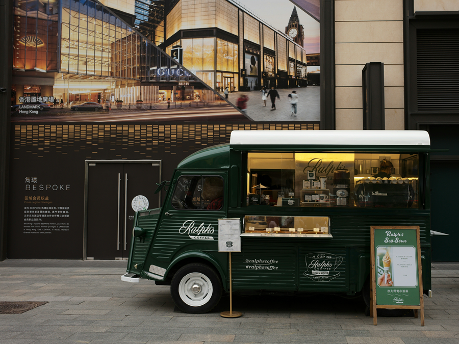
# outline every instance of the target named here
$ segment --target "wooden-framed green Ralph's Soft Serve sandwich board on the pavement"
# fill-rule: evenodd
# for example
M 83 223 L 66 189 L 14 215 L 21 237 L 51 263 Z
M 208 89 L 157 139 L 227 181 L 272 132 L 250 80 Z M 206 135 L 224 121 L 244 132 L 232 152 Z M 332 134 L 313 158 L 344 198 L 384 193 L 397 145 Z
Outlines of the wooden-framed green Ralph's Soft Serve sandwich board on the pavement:
M 373 324 L 377 308 L 421 310 L 424 326 L 419 226 L 371 226 L 371 290 Z

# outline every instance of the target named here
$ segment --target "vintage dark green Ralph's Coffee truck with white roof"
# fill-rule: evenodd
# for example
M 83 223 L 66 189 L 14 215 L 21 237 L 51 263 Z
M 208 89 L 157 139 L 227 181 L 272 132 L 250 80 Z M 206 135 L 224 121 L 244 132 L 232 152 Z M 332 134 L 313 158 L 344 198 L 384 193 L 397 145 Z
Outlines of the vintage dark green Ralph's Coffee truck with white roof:
M 370 226 L 419 226 L 428 294 L 429 150 L 425 131 L 233 131 L 161 183 L 161 208 L 136 213 L 121 279 L 170 285 L 184 312 L 210 311 L 230 289 L 218 219 L 239 219 L 234 292 L 362 294 L 369 304 Z

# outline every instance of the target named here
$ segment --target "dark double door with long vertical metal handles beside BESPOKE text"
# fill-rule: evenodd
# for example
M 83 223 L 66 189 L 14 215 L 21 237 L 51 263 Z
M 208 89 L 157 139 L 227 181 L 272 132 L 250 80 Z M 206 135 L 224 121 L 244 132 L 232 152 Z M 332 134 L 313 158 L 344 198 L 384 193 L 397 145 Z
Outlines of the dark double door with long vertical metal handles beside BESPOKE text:
M 86 259 L 127 259 L 137 210 L 157 208 L 160 161 L 86 162 Z

